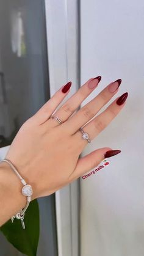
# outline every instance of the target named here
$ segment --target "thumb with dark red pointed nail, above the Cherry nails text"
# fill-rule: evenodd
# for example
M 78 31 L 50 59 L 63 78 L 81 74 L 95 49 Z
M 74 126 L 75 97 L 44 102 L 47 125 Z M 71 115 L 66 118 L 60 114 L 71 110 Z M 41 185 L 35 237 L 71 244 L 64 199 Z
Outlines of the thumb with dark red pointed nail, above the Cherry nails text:
M 71 176 L 73 176 L 74 179 L 79 178 L 88 172 L 88 170 L 98 166 L 104 158 L 117 155 L 120 152 L 120 150 L 112 150 L 108 147 L 94 150 L 90 154 L 78 159 L 76 168 Z

